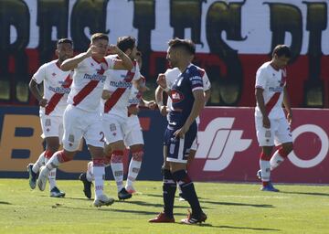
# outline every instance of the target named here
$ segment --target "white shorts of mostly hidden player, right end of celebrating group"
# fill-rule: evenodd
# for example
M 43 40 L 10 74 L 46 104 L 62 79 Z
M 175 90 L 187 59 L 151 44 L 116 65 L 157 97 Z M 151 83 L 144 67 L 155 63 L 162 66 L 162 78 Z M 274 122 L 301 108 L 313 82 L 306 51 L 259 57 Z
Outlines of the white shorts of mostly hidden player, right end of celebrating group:
M 137 115 L 129 117 L 123 124 L 122 130 L 124 135 L 123 142 L 125 146 L 128 147 L 135 144 L 144 144 L 142 127 Z

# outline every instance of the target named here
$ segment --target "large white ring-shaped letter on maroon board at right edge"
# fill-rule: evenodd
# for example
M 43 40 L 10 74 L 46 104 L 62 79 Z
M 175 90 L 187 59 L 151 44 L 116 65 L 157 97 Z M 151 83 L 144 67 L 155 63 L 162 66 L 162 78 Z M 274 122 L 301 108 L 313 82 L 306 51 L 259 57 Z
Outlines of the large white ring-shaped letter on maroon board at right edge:
M 303 160 L 299 158 L 294 152 L 292 151 L 291 154 L 288 155 L 288 158 L 292 162 L 293 165 L 296 165 L 301 168 L 310 168 L 315 165 L 319 165 L 328 154 L 329 150 L 329 139 L 328 135 L 324 132 L 324 130 L 314 124 L 304 124 L 292 131 L 292 139 L 293 141 L 297 139 L 297 137 L 302 133 L 315 133 L 321 140 L 321 149 L 320 152 L 310 160 Z M 298 147 L 298 145 L 296 146 Z

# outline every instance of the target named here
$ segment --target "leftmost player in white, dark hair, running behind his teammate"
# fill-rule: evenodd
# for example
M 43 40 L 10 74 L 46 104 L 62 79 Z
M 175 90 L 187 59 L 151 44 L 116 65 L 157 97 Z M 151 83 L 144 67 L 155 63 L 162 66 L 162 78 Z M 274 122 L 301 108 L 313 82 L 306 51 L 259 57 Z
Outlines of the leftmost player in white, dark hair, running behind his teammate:
M 69 71 L 60 69 L 60 65 L 67 58 L 73 56 L 73 43 L 68 38 L 61 38 L 57 42 L 56 55 L 58 59 L 42 65 L 29 82 L 29 89 L 37 99 L 40 106 L 40 121 L 42 137 L 46 141 L 46 150 L 42 152 L 35 164 L 27 165 L 29 174 L 29 186 L 35 189 L 37 186 L 37 173 L 42 165 L 45 165 L 51 156 L 58 151 L 63 134 L 63 112 L 67 107 L 69 87 L 72 82 Z M 37 88 L 43 82 L 44 93 Z M 50 197 L 65 197 L 56 185 L 56 168 L 52 169 L 48 176 Z

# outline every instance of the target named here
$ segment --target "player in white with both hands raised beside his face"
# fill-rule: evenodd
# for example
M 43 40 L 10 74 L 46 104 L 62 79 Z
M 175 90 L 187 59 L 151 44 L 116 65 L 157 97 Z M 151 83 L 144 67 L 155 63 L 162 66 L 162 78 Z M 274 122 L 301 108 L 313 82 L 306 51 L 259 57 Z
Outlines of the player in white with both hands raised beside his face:
M 44 190 L 46 177 L 50 170 L 73 159 L 83 137 L 88 145 L 95 177 L 95 207 L 108 206 L 113 198 L 103 194 L 104 175 L 104 133 L 102 129 L 100 101 L 106 80 L 107 69 L 133 69 L 133 62 L 121 49 L 108 45 L 109 37 L 96 33 L 91 37 L 90 48 L 74 58 L 67 59 L 62 65 L 63 70 L 74 69 L 73 83 L 69 92 L 69 105 L 64 112 L 63 150 L 58 151 L 42 167 L 37 179 L 37 186 Z M 118 54 L 119 58 L 104 58 L 108 51 Z

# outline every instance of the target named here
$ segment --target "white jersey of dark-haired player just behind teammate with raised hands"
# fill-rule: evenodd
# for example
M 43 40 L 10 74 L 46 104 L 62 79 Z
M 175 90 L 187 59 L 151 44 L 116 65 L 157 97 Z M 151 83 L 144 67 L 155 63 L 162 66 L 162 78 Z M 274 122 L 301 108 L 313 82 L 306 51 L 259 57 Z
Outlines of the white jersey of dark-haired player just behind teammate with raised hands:
M 110 57 L 115 58 L 115 56 Z M 133 86 L 132 81 L 141 78 L 137 62 L 133 61 L 133 69 L 131 70 L 108 70 L 105 72 L 105 75 L 108 79 L 105 81 L 104 90 L 109 90 L 111 97 L 107 101 L 102 101 L 104 104 L 102 114 L 104 116 L 114 114 L 122 118 L 127 118 L 127 107 L 130 105 L 129 98 Z

